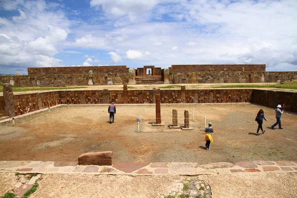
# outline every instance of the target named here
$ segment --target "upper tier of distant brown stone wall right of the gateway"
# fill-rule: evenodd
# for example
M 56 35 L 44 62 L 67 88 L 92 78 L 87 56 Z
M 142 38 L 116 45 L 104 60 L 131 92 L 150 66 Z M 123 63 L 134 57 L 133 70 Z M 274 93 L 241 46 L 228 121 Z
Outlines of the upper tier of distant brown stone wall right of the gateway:
M 262 71 L 265 64 L 257 65 L 171 65 L 169 72 L 200 72 L 200 71 Z

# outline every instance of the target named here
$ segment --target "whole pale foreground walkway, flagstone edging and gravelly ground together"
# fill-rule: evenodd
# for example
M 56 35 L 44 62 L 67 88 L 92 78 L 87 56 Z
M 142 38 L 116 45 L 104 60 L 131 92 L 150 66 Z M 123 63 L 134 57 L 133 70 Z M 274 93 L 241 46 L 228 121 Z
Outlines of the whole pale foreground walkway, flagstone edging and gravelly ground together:
M 27 178 L 29 173 L 36 174 Z M 37 181 L 32 198 L 293 198 L 297 161 L 115 162 L 112 166 L 0 161 L 0 181 L 0 196 L 13 192 L 19 197 Z

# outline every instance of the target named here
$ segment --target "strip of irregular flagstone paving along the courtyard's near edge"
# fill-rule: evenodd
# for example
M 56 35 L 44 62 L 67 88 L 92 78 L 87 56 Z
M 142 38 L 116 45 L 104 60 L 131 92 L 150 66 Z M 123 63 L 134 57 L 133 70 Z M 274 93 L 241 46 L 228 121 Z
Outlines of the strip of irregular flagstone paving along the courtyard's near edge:
M 112 166 L 78 165 L 77 162 L 0 161 L 0 172 L 129 174 L 129 175 L 200 175 L 239 172 L 297 172 L 297 161 L 243 161 L 198 165 L 184 162 L 115 162 Z

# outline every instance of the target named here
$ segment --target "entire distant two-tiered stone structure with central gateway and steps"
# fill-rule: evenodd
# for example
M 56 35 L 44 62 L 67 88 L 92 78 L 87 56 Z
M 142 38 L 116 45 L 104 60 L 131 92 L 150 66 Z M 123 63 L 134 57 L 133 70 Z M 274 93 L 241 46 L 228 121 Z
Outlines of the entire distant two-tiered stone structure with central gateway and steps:
M 266 72 L 265 65 L 153 65 L 129 69 L 121 66 L 28 68 L 28 75 L 0 76 L 13 86 L 88 86 L 115 84 L 276 83 L 297 79 L 297 72 Z M 93 71 L 93 73 L 89 73 Z M 148 71 L 151 71 L 148 75 Z

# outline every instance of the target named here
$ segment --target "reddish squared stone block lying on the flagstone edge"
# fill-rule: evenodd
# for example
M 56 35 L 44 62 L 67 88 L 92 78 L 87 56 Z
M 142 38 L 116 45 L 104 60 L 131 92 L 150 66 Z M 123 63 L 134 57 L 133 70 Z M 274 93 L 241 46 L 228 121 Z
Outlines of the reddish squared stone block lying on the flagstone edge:
M 80 165 L 112 165 L 112 151 L 87 152 L 78 157 Z

